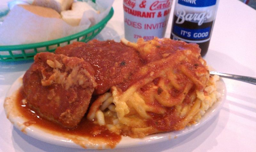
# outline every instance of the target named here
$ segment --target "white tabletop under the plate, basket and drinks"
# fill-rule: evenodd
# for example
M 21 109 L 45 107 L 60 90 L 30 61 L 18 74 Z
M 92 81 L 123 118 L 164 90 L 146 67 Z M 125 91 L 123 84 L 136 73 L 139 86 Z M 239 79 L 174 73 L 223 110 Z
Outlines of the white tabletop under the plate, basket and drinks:
M 1 2 L 0 2 L 1 3 Z M 114 16 L 96 37 L 99 40 L 124 37 L 123 1 L 115 0 Z M 170 37 L 172 14 L 165 37 Z M 208 65 L 223 73 L 256 77 L 256 10 L 238 0 L 220 0 L 208 53 Z M 0 62 L 0 104 L 12 83 L 32 62 Z M 179 152 L 240 152 L 256 151 L 256 86 L 231 79 L 223 79 L 227 98 L 220 113 L 201 128 L 176 139 L 147 146 L 105 151 L 179 151 Z M 41 142 L 29 137 L 8 121 L 0 106 L 0 151 L 95 151 L 73 149 Z

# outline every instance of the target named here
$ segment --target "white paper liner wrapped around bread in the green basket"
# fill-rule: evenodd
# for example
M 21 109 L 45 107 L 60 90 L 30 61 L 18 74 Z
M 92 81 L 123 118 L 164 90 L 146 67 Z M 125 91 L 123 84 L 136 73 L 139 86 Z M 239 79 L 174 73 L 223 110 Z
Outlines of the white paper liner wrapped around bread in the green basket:
M 18 5 L 14 6 L 0 26 L 0 45 L 44 42 L 84 31 L 105 18 L 113 2 L 114 0 L 96 0 L 96 6 L 100 10 L 100 14 L 92 10 L 85 11 L 79 26 L 74 27 L 62 19 L 41 17 Z M 88 19 L 90 17 L 94 18 L 95 23 L 91 23 Z

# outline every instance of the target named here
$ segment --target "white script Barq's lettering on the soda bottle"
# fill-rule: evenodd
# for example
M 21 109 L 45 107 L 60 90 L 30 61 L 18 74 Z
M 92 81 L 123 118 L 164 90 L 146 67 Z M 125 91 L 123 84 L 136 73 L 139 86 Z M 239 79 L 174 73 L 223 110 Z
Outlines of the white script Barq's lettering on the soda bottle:
M 181 10 L 180 12 L 177 11 L 178 18 L 176 20 L 176 24 L 182 24 L 185 21 L 192 21 L 192 22 L 197 22 L 198 25 L 202 25 L 206 19 L 209 19 L 212 17 L 212 10 L 207 10 L 206 12 L 202 13 L 188 13 L 186 14 L 185 10 Z

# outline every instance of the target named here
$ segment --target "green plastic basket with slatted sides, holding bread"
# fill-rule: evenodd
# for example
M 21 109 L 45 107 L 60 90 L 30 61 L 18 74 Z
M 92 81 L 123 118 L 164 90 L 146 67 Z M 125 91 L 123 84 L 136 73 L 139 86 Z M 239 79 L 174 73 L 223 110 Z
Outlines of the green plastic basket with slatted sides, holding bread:
M 98 24 L 64 38 L 32 44 L 2 45 L 0 46 L 0 61 L 7 62 L 31 60 L 34 59 L 34 56 L 38 52 L 54 52 L 58 46 L 65 46 L 74 41 L 88 42 L 100 33 L 113 14 L 114 10 L 111 8 L 108 15 Z

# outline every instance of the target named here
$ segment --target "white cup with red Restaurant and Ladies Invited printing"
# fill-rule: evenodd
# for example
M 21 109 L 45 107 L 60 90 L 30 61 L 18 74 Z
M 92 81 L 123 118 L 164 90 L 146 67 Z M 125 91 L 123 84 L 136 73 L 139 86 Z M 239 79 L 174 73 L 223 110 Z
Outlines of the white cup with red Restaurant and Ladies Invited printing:
M 124 0 L 125 38 L 163 38 L 171 11 L 172 0 Z

